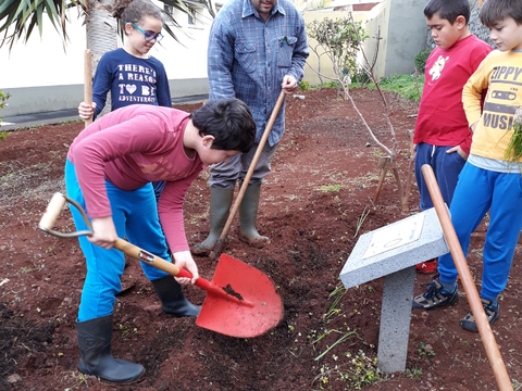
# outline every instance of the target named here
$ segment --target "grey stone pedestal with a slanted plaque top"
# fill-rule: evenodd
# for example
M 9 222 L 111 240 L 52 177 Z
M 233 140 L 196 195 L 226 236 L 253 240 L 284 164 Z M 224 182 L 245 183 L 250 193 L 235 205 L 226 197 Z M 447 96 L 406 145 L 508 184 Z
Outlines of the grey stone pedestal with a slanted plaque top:
M 435 209 L 362 235 L 340 272 L 345 288 L 384 277 L 377 363 L 406 371 L 415 265 L 449 252 Z

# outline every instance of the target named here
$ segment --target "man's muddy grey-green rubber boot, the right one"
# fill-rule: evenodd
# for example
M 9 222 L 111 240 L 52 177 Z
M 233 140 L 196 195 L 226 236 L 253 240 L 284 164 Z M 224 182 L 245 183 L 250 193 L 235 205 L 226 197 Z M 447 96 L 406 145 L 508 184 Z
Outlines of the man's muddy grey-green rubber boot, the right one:
M 260 194 L 261 185 L 249 185 L 239 205 L 240 239 L 257 249 L 263 248 L 269 242 L 269 238 L 259 235 L 256 229 Z

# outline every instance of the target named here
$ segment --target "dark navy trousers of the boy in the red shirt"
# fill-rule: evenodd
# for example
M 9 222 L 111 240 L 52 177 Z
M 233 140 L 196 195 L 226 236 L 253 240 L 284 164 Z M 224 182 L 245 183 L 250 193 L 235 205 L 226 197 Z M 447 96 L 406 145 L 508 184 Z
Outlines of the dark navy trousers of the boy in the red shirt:
M 451 206 L 455 188 L 459 179 L 459 174 L 464 166 L 465 161 L 457 153 L 446 153 L 452 147 L 435 147 L 425 142 L 417 146 L 415 154 L 415 179 L 419 192 L 421 194 L 421 211 L 433 207 L 432 198 L 427 190 L 421 167 L 428 164 L 433 168 L 438 188 L 443 194 L 446 205 Z

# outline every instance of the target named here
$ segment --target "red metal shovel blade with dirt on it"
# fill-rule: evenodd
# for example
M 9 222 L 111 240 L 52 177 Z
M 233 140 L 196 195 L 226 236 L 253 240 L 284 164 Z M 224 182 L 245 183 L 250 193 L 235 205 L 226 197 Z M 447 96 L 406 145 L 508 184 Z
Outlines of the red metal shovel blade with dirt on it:
M 274 328 L 283 317 L 283 304 L 272 281 L 241 261 L 222 254 L 212 285 L 233 298 L 207 291 L 196 320 L 200 327 L 225 336 L 250 338 Z

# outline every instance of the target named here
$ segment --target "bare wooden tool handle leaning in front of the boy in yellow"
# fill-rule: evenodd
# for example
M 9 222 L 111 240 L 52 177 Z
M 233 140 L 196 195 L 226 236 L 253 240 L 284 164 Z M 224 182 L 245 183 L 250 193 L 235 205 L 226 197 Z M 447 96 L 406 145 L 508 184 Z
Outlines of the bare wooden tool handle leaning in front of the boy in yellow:
M 444 204 L 443 195 L 440 194 L 433 169 L 427 164 L 424 164 L 421 169 L 422 174 L 424 175 L 424 180 L 426 181 L 430 195 L 432 197 L 433 205 L 435 206 L 438 219 L 440 220 L 446 242 L 448 243 L 449 251 L 453 257 L 455 266 L 459 272 L 460 280 L 462 281 L 462 286 L 465 291 L 465 298 L 470 303 L 471 312 L 475 318 L 476 327 L 478 328 L 478 333 L 481 335 L 482 342 L 484 343 L 487 358 L 489 360 L 489 365 L 492 366 L 493 374 L 497 380 L 498 388 L 500 391 L 513 390 L 508 371 L 504 365 L 502 356 L 500 355 L 497 342 L 495 341 L 495 336 L 493 335 L 492 327 L 489 326 L 489 321 L 484 313 L 484 307 L 482 306 L 482 302 L 478 298 L 473 278 L 471 277 L 470 269 L 468 268 L 464 253 L 462 252 L 459 239 L 455 232 L 449 213 Z

